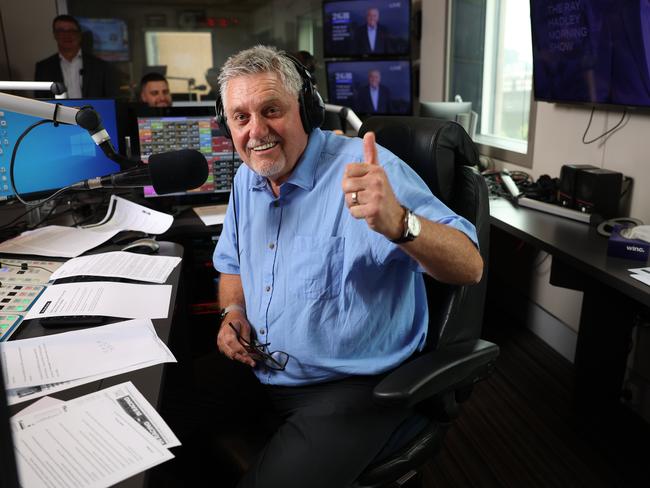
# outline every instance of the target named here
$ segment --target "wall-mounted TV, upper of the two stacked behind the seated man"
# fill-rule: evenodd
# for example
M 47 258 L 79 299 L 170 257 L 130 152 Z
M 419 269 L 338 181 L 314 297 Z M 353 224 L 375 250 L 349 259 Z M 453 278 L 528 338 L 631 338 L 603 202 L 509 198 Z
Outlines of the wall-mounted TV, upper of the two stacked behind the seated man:
M 323 2 L 325 57 L 408 55 L 410 0 Z

